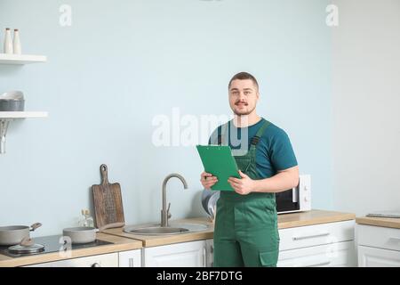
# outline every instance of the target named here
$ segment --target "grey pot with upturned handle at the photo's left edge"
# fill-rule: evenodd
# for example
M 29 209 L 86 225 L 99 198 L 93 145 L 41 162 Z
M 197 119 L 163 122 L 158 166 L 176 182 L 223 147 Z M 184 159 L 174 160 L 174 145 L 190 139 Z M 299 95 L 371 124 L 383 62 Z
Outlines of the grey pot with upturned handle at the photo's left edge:
M 20 244 L 25 238 L 29 238 L 29 233 L 35 231 L 42 224 L 35 223 L 30 227 L 27 225 L 10 225 L 0 227 L 0 246 L 13 246 Z

